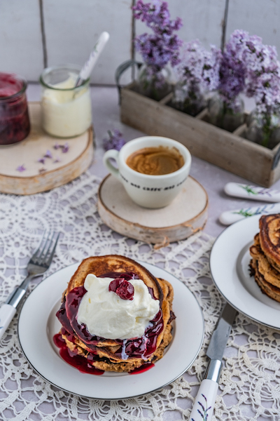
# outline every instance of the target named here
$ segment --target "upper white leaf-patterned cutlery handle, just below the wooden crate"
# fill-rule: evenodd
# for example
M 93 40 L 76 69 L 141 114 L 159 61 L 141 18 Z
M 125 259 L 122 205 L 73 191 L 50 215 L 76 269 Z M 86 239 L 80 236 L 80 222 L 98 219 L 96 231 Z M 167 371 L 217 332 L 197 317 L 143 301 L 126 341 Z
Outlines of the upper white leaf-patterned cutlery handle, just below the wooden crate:
M 265 189 L 264 187 L 241 184 L 239 182 L 228 182 L 224 187 L 228 196 L 242 197 L 258 201 L 276 203 L 280 201 L 279 190 Z

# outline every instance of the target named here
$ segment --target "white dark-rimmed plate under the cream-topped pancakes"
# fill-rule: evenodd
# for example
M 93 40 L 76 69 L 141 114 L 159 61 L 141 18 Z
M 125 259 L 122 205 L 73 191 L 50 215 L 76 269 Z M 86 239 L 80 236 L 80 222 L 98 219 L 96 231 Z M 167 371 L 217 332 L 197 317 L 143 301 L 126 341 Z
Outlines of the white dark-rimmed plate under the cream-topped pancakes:
M 190 290 L 164 269 L 140 262 L 154 276 L 167 279 L 174 288 L 176 314 L 173 340 L 165 355 L 144 373 L 80 373 L 59 356 L 53 336 L 61 327 L 55 314 L 62 293 L 78 265 L 48 276 L 29 295 L 20 312 L 18 335 L 27 360 L 45 380 L 66 392 L 94 399 L 126 399 L 153 392 L 173 382 L 195 361 L 204 338 L 204 318 Z

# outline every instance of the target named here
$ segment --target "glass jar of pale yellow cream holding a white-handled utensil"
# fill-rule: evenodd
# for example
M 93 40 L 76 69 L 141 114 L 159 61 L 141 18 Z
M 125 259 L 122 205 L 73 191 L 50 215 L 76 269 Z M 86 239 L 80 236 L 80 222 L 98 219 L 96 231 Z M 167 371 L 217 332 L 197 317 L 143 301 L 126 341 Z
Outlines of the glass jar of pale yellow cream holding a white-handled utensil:
M 92 123 L 90 79 L 76 85 L 80 68 L 48 67 L 40 76 L 43 129 L 57 138 L 73 138 Z

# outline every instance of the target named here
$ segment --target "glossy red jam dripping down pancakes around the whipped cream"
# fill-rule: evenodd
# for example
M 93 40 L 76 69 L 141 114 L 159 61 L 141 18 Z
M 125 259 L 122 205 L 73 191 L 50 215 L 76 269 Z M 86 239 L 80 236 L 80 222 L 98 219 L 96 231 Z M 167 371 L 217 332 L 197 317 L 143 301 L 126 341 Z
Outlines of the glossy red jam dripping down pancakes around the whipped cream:
M 132 276 L 133 275 L 133 278 Z M 109 274 L 104 274 L 100 277 L 111 277 L 115 279 L 121 278 L 128 278 L 128 279 L 136 279 L 137 276 L 134 276 L 134 274 L 120 274 L 119 272 L 110 272 Z M 155 295 L 153 293 L 153 288 L 148 288 L 149 293 L 153 297 L 154 300 L 156 300 Z M 57 318 L 59 319 L 60 323 L 62 323 L 62 333 L 63 335 L 66 335 L 67 340 L 70 342 L 75 343 L 75 333 L 78 336 L 78 338 L 83 341 L 88 348 L 89 354 L 87 356 L 87 360 L 94 361 L 99 359 L 96 352 L 96 345 L 98 342 L 106 341 L 106 338 L 100 338 L 99 336 L 91 335 L 91 333 L 87 330 L 87 327 L 84 323 L 80 324 L 77 321 L 77 314 L 78 314 L 78 307 L 80 305 L 80 301 L 83 298 L 83 295 L 86 293 L 86 289 L 83 286 L 79 286 L 76 288 L 73 288 L 67 295 L 66 300 L 62 302 L 62 305 L 60 309 L 57 312 Z M 144 335 L 141 338 L 132 338 L 128 340 L 114 340 L 114 342 L 118 342 L 120 344 L 120 349 L 115 353 L 116 356 L 120 356 L 123 359 L 123 356 L 125 355 L 127 358 L 130 357 L 136 357 L 136 358 L 142 358 L 142 359 L 148 359 L 153 352 L 155 352 L 158 335 L 162 332 L 164 323 L 162 318 L 162 310 L 158 312 L 158 314 L 155 315 L 154 319 L 148 324 Z M 62 338 L 61 338 L 62 339 Z M 59 342 L 60 338 L 58 339 L 57 335 L 54 337 L 55 345 L 60 348 L 59 354 L 62 356 L 63 359 L 65 359 L 66 355 L 66 345 L 62 345 Z M 62 351 L 62 349 L 64 349 Z M 67 349 L 67 348 L 66 348 Z M 73 354 L 71 352 L 71 354 Z M 65 357 L 65 358 L 64 358 Z M 71 359 L 73 366 L 73 355 L 70 355 L 67 358 Z M 85 360 L 85 364 L 87 364 L 87 360 L 84 357 L 80 357 Z M 66 361 L 66 359 L 65 359 Z M 76 360 L 75 360 L 76 361 Z M 66 362 L 69 362 L 68 360 Z M 153 366 L 152 363 L 145 363 L 143 366 L 141 366 L 139 369 L 133 370 L 131 373 L 142 373 L 143 371 L 148 370 L 148 368 L 151 368 Z M 78 367 L 76 367 L 78 368 Z M 141 370 L 141 368 L 143 368 Z M 80 368 L 78 368 L 80 370 Z M 93 373 L 94 374 L 94 373 Z

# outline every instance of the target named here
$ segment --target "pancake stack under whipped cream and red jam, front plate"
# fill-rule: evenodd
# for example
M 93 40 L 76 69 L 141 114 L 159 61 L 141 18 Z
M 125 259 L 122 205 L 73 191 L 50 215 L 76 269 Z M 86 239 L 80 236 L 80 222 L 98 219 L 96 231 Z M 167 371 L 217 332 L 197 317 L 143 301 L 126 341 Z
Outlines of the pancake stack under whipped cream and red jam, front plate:
M 144 350 L 147 343 L 146 337 L 142 337 L 142 342 L 141 339 L 135 341 L 134 338 L 131 349 L 135 349 L 135 351 L 128 355 L 123 352 L 124 349 L 126 351 L 126 348 L 123 347 L 127 345 L 129 340 L 124 342 L 97 336 L 92 337 L 85 325 L 78 325 L 76 315 L 71 315 L 69 304 L 67 307 L 67 302 L 71 300 L 70 297 L 73 295 L 73 291 L 79 291 L 79 288 L 83 288 L 87 274 L 95 274 L 99 277 L 107 274 L 108 277 L 111 277 L 110 273 L 113 276 L 113 273 L 116 274 L 116 272 L 120 274 L 133 272 L 139 279 L 144 281 L 152 297 L 160 302 L 160 312 L 156 316 L 160 320 L 159 323 L 161 323 L 158 328 L 160 333 L 156 333 L 156 335 L 154 333 L 151 334 L 152 342 L 154 343 L 153 347 L 150 348 L 150 351 L 153 349 L 152 353 L 147 352 L 147 349 L 146 351 Z M 90 363 L 94 368 L 105 371 L 130 372 L 143 364 L 154 363 L 162 358 L 165 348 L 172 340 L 171 321 L 175 319 L 172 312 L 172 300 L 172 285 L 164 279 L 156 279 L 145 267 L 130 258 L 120 255 L 87 258 L 83 260 L 75 274 L 73 274 L 64 292 L 62 306 L 57 312 L 57 317 L 62 323 L 60 333 L 69 351 L 72 354 L 85 357 L 87 363 Z M 153 338 L 156 338 L 156 343 Z M 137 349 L 137 344 L 139 344 L 139 349 Z

